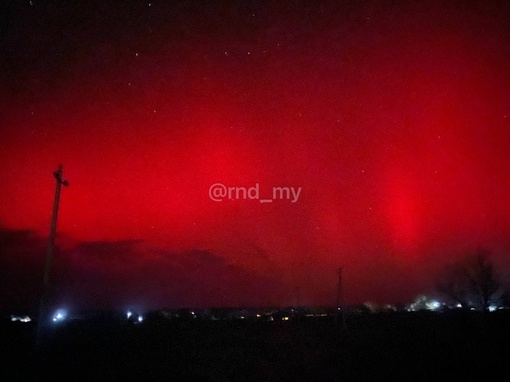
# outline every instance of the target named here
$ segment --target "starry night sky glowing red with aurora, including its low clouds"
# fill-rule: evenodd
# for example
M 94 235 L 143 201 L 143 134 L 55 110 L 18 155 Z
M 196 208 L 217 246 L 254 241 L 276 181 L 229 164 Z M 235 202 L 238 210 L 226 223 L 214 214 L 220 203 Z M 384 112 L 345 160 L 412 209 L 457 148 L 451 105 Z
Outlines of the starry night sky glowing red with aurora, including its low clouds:
M 71 308 L 333 304 L 339 266 L 409 302 L 480 247 L 510 280 L 507 1 L 5 1 L 0 100 L 2 309 L 59 163 Z

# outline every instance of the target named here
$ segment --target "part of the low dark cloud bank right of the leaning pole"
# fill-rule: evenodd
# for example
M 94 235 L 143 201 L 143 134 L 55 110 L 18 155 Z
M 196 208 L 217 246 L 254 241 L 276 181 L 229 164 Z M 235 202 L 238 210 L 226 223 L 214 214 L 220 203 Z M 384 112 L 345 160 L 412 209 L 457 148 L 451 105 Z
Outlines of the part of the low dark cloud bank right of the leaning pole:
M 74 308 L 271 305 L 284 288 L 205 250 L 147 249 L 140 241 L 95 241 L 56 256 L 55 304 Z

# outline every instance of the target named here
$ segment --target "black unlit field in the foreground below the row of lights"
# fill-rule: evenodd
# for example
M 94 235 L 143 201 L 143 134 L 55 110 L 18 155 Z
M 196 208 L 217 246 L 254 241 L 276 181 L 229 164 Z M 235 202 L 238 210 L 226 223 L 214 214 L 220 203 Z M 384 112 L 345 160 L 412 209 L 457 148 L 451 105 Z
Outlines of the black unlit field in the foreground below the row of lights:
M 3 322 L 2 381 L 508 380 L 510 312 L 366 314 L 289 321 Z

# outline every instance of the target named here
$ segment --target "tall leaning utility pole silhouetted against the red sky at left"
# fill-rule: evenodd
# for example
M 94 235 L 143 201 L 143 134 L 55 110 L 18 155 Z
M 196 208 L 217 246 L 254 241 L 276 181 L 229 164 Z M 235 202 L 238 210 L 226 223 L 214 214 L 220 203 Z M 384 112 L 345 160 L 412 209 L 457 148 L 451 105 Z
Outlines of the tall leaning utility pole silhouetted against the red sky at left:
M 50 225 L 50 237 L 48 241 L 48 249 L 46 252 L 46 263 L 44 266 L 44 277 L 43 277 L 43 295 L 39 306 L 39 319 L 37 322 L 37 342 L 40 341 L 43 327 L 48 323 L 48 300 L 50 294 L 50 269 L 53 261 L 53 252 L 55 250 L 55 237 L 57 234 L 57 219 L 58 219 L 58 207 L 60 203 L 60 190 L 62 186 L 67 187 L 69 182 L 63 179 L 64 168 L 60 164 L 57 171 L 53 173 L 55 178 L 55 197 L 53 199 L 53 213 L 51 215 Z

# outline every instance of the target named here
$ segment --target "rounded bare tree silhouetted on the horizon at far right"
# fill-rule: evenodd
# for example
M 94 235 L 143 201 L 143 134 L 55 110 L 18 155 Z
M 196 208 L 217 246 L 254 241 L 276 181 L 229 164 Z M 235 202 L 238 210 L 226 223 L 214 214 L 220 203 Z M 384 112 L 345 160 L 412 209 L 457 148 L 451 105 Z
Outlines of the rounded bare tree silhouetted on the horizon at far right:
M 488 310 L 489 305 L 502 293 L 501 283 L 489 257 L 489 251 L 479 249 L 447 267 L 439 274 L 436 288 L 462 307 Z

